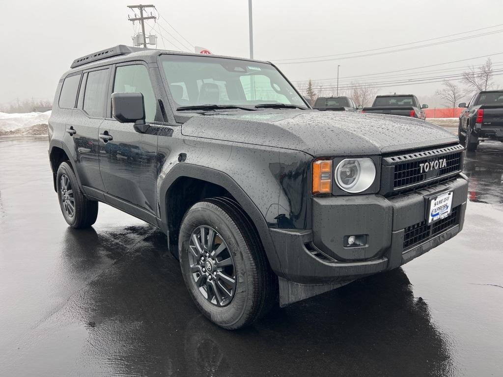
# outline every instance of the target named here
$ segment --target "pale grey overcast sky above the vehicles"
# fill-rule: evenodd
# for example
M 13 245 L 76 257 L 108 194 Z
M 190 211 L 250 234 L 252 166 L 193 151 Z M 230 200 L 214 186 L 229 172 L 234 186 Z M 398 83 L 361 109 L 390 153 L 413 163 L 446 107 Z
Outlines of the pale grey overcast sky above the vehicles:
M 73 59 L 117 44 L 131 45 L 134 31 L 127 19 L 131 12 L 126 5 L 137 4 L 132 0 L 24 0 L 3 3 L 0 103 L 31 97 L 52 100 L 59 77 Z M 247 0 L 153 0 L 148 4 L 154 4 L 160 15 L 190 42 L 183 40 L 161 19 L 159 25 L 164 29 L 160 32 L 166 48 L 175 49 L 167 40 L 180 46 L 167 30 L 191 48 L 196 45 L 216 54 L 249 56 Z M 328 57 L 334 59 L 330 61 L 302 64 L 280 61 L 348 54 L 503 24 L 501 0 L 254 0 L 253 4 L 255 58 L 278 63 L 291 80 L 334 78 L 340 64 L 342 87 L 355 80 L 347 76 L 396 71 L 497 53 L 492 60 L 495 64 L 501 62 L 500 67 L 503 67 L 503 33 L 352 59 L 337 60 L 336 56 Z M 150 27 L 147 27 L 147 33 L 149 30 Z M 503 30 L 503 25 L 432 42 L 498 30 Z M 154 34 L 159 36 L 158 47 L 162 48 L 157 28 Z M 380 51 L 383 50 L 377 52 Z M 463 70 L 463 66 L 481 64 L 484 60 L 479 58 L 423 68 L 423 71 L 447 68 L 453 71 L 424 73 L 423 76 L 456 74 L 456 71 Z M 500 68 L 495 66 L 495 69 Z M 390 73 L 393 74 L 398 73 Z M 376 81 L 375 76 L 360 78 L 361 82 L 372 80 Z M 396 77 L 382 80 L 396 80 Z M 495 81 L 501 86 L 503 75 L 495 76 Z M 333 87 L 334 82 L 321 80 L 318 85 Z M 433 95 L 440 86 L 439 82 L 383 87 L 380 93 L 413 92 L 426 97 Z

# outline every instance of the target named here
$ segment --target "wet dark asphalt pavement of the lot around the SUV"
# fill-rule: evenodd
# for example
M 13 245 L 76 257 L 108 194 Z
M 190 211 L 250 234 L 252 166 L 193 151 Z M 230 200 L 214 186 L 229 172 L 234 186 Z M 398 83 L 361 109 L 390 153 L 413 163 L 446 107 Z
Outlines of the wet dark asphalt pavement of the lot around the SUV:
M 0 141 L 0 375 L 501 375 L 503 144 L 465 169 L 454 239 L 230 332 L 196 309 L 161 232 L 103 204 L 69 228 L 46 140 Z

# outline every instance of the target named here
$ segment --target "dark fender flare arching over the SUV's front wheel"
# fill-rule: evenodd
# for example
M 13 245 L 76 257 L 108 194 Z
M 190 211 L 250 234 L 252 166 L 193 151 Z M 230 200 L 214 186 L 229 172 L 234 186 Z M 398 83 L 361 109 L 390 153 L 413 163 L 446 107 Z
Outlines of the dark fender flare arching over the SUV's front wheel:
M 257 228 L 260 240 L 262 241 L 262 245 L 264 246 L 264 250 L 273 271 L 280 276 L 284 275 L 283 271 L 281 270 L 280 261 L 276 253 L 273 239 L 271 237 L 271 233 L 269 227 L 267 226 L 264 215 L 260 212 L 255 203 L 236 183 L 236 181 L 234 181 L 229 175 L 220 170 L 189 163 L 178 163 L 166 174 L 162 183 L 160 184 L 159 189 L 160 227 L 164 232 L 169 233 L 169 227 L 167 224 L 167 213 L 169 212 L 169 208 L 167 208 L 166 202 L 167 192 L 172 184 L 181 177 L 201 179 L 219 185 L 227 190 L 230 195 L 232 195 L 232 197 L 237 201 L 237 203 L 243 208 L 243 210 L 246 212 L 250 220 Z

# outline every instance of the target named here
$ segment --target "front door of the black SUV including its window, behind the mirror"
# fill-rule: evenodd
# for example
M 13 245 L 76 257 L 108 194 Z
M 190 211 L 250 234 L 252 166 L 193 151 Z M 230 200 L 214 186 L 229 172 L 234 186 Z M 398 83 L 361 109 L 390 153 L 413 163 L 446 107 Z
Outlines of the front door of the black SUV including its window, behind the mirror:
M 145 121 L 155 120 L 157 105 L 148 69 L 138 62 L 117 65 L 111 92 L 141 92 Z M 110 93 L 111 94 L 111 93 Z M 100 171 L 107 201 L 152 222 L 157 216 L 157 132 L 138 132 L 133 123 L 108 118 L 100 126 Z

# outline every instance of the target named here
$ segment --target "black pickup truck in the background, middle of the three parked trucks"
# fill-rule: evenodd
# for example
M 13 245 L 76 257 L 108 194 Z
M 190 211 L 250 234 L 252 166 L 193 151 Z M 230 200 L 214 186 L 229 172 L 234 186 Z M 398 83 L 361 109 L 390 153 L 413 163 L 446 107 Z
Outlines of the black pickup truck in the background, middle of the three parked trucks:
M 377 96 L 370 108 L 363 108 L 363 113 L 401 115 L 425 120 L 426 114 L 423 109 L 428 105 L 421 106 L 414 95 L 389 95 Z

